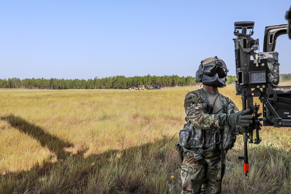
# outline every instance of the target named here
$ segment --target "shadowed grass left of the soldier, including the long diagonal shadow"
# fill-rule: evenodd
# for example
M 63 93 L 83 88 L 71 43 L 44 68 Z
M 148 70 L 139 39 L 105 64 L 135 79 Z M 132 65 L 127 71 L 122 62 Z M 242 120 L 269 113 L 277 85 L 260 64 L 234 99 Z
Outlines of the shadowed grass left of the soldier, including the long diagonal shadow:
M 72 154 L 74 145 L 48 134 L 13 114 L 2 117 L 12 127 L 37 140 L 57 155 L 28 171 L 7 172 L 0 177 L 0 193 L 180 193 L 180 168 L 174 150 L 177 141 L 164 136 L 155 142 L 124 150 Z M 174 175 L 174 179 L 170 179 Z

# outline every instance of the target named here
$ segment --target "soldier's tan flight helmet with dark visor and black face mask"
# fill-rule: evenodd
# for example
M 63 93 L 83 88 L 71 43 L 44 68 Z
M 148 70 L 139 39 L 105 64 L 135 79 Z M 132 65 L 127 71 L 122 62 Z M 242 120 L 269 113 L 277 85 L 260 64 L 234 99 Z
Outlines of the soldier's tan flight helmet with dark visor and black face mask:
M 196 72 L 196 83 L 202 82 L 207 86 L 224 87 L 226 86 L 227 72 L 226 64 L 217 56 L 204 59 Z

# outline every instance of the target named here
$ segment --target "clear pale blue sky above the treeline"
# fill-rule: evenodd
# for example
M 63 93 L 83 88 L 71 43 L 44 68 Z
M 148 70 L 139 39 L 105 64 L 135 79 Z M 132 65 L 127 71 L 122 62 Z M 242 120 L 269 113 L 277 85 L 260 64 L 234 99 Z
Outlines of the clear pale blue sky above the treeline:
M 200 61 L 213 56 L 235 75 L 234 22 L 254 21 L 262 48 L 265 26 L 286 24 L 290 6 L 290 0 L 1 1 L 0 78 L 195 76 Z M 278 42 L 280 73 L 291 72 L 290 45 L 287 35 Z

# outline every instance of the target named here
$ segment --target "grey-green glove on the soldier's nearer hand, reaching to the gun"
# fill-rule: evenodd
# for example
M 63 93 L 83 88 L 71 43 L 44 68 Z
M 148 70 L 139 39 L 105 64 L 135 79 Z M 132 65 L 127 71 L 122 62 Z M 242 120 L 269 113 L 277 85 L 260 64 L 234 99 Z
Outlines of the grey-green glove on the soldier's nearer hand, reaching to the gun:
M 249 127 L 250 124 L 253 122 L 253 116 L 246 115 L 246 113 L 249 113 L 250 111 L 251 109 L 246 109 L 245 111 L 239 111 L 230 115 L 222 113 L 217 115 L 217 118 L 221 126 L 229 124 Z

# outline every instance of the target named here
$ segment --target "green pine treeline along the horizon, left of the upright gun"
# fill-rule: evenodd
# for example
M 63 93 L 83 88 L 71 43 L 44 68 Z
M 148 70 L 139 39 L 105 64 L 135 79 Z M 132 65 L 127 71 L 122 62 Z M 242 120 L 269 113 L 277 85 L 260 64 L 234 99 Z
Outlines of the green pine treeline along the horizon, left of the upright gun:
M 234 84 L 236 76 L 227 76 L 227 84 Z M 94 79 L 19 79 L 8 78 L 0 79 L 0 88 L 23 88 L 23 89 L 51 89 L 51 90 L 65 90 L 65 89 L 127 89 L 130 87 L 138 87 L 139 85 L 152 85 L 160 87 L 174 87 L 174 86 L 193 86 L 196 85 L 195 77 L 192 76 L 113 76 Z

